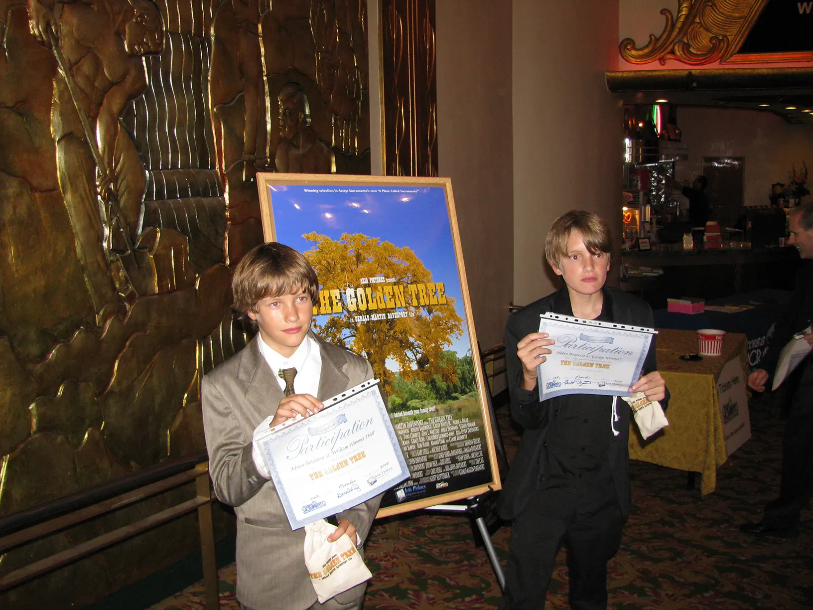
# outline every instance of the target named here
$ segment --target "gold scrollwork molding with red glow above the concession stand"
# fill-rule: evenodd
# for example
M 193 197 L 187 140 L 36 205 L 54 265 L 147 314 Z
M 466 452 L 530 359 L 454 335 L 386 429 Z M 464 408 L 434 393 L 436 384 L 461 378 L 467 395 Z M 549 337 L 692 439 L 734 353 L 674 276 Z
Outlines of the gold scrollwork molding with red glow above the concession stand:
M 676 59 L 689 65 L 714 62 L 765 62 L 810 59 L 798 54 L 735 54 L 746 40 L 767 0 L 678 0 L 677 16 L 664 8 L 666 25 L 660 36 L 650 34 L 645 46 L 637 48 L 632 38 L 620 42 L 621 57 L 629 63 L 665 64 Z M 807 54 L 809 55 L 809 54 Z

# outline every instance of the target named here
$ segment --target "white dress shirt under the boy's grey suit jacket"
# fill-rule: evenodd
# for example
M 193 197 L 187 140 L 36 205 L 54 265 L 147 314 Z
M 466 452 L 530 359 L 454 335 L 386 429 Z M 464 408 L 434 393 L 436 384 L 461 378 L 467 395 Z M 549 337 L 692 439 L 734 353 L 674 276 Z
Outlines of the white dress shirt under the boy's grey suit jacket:
M 280 370 L 283 368 L 296 368 L 297 375 L 293 377 L 293 393 L 294 394 L 311 394 L 316 397 L 319 392 L 319 380 L 322 375 L 322 354 L 319 349 L 319 343 L 311 337 L 311 333 L 305 335 L 304 341 L 299 344 L 297 351 L 286 358 L 278 351 L 274 350 L 263 338 L 259 338 L 259 353 L 271 367 L 272 373 L 276 381 L 280 384 L 280 390 L 285 390 L 285 379 L 280 377 Z M 274 416 L 268 416 L 260 422 L 259 426 L 254 429 L 254 439 L 263 430 L 268 429 L 271 420 Z M 254 447 L 251 449 L 251 456 L 254 458 L 254 465 L 257 466 L 259 473 L 266 477 L 271 478 L 271 470 L 268 468 L 263 458 L 263 452 L 259 449 L 259 443 L 254 440 Z

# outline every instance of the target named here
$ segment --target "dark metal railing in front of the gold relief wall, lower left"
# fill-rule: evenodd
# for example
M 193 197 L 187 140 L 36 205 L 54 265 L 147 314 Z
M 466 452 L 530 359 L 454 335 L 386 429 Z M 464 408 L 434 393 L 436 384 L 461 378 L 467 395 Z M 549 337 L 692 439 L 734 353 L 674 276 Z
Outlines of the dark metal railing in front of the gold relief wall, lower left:
M 20 569 L 15 569 L 0 577 L 0 592 L 197 510 L 206 605 L 208 610 L 220 608 L 215 533 L 211 516 L 211 503 L 214 498 L 209 482 L 209 462 L 206 451 L 198 451 L 198 453 L 185 456 L 180 460 L 144 468 L 115 481 L 102 483 L 87 490 L 37 504 L 37 506 L 2 517 L 0 519 L 0 555 L 50 534 L 56 534 L 83 521 L 133 505 L 192 481 L 195 483 L 193 499 L 114 529 L 107 534 L 80 542 Z

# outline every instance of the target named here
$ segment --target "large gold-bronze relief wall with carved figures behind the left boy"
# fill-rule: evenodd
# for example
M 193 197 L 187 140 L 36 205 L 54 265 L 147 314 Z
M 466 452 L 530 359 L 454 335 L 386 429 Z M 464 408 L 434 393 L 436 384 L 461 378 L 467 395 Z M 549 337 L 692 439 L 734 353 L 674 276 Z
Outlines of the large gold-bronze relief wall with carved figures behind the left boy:
M 246 342 L 229 264 L 263 239 L 254 172 L 368 173 L 369 108 L 363 0 L 0 5 L 2 517 L 203 448 L 200 379 Z M 0 575 L 98 527 L 9 551 Z M 196 527 L 0 607 L 90 603 L 196 551 Z

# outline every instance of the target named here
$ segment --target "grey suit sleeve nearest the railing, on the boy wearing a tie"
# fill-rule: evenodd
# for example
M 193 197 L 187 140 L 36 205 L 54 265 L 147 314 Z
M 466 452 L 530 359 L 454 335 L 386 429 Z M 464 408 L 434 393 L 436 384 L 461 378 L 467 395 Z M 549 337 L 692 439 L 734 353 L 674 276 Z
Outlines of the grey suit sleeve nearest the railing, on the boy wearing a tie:
M 237 424 L 234 405 L 208 375 L 203 377 L 201 386 L 203 430 L 209 451 L 212 485 L 221 502 L 240 506 L 263 485 L 273 483 L 267 481 L 254 465 L 251 455 L 253 442 L 251 438 L 246 438 Z

